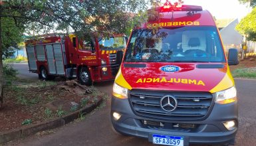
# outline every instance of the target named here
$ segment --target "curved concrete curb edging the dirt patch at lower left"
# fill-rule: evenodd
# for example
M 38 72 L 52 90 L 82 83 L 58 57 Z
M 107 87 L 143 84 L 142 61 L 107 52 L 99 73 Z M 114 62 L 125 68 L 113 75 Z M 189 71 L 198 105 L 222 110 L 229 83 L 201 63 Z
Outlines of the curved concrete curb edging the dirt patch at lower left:
M 100 99 L 94 104 L 88 104 L 84 108 L 69 113 L 68 115 L 64 115 L 63 117 L 56 117 L 55 119 L 51 119 L 50 121 L 35 123 L 33 125 L 28 125 L 19 129 L 13 129 L 5 133 L 0 133 L 0 144 L 7 143 L 8 141 L 12 141 L 15 139 L 28 137 L 29 135 L 33 135 L 39 131 L 45 131 L 61 127 L 67 123 L 70 123 L 71 121 L 74 121 L 74 119 L 77 119 L 80 116 L 80 113 L 90 113 L 90 111 L 99 106 L 102 101 L 103 100 Z

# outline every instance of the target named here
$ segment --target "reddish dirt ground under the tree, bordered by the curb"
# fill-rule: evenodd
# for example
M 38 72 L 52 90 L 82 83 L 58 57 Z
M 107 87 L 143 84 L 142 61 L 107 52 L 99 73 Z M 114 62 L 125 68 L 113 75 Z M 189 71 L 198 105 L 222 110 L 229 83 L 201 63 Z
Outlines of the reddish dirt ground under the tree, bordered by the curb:
M 95 98 L 101 98 L 94 88 L 90 88 L 91 94 L 76 94 L 58 88 L 60 84 L 62 83 L 19 79 L 11 86 L 5 86 L 4 104 L 0 109 L 0 132 L 22 127 L 26 125 L 26 119 L 27 124 L 31 124 L 61 117 L 94 102 Z M 73 109 L 71 102 L 75 106 Z M 64 107 L 66 103 L 69 106 Z M 55 108 L 51 108 L 54 106 Z M 68 111 L 68 108 L 71 109 Z

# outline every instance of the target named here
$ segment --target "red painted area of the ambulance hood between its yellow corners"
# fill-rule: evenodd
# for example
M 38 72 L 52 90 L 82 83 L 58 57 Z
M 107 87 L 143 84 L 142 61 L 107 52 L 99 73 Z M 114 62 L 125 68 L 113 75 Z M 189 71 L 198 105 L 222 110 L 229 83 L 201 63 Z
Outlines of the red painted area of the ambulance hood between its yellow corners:
M 226 64 L 225 67 L 221 69 L 196 68 L 197 64 L 202 63 L 146 63 L 146 68 L 127 68 L 122 65 L 122 74 L 133 89 L 209 92 L 209 90 L 217 86 L 227 72 Z M 179 66 L 180 71 L 164 72 L 160 70 L 162 66 L 166 65 Z M 211 78 L 209 78 L 209 76 L 211 76 Z M 147 78 L 160 78 L 160 80 L 159 82 L 147 82 L 151 80 L 147 80 Z M 163 82 L 161 82 L 162 78 L 166 78 L 166 81 L 163 80 Z M 182 83 L 182 79 L 187 79 L 187 82 L 188 80 L 196 80 L 197 84 L 184 84 Z M 172 80 L 172 82 L 168 82 L 170 80 Z M 203 84 L 198 85 L 200 80 L 203 82 L 204 86 Z M 184 80 L 184 82 L 186 82 L 186 80 Z

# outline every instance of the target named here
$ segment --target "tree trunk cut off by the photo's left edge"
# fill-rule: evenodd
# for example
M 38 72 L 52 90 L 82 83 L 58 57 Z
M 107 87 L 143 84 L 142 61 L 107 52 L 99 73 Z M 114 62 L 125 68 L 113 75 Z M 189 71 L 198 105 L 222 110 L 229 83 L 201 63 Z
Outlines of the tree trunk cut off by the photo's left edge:
M 1 17 L 0 17 L 0 108 L 2 108 L 2 106 L 3 106 L 3 50 L 2 50 L 2 26 L 1 26 Z

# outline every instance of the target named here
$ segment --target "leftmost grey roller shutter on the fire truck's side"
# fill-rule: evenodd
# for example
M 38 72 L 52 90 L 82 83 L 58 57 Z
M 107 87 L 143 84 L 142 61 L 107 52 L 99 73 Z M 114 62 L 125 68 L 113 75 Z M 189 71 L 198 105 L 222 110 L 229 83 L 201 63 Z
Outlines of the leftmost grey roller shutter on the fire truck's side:
M 37 70 L 34 46 L 27 46 L 27 58 L 29 60 L 29 71 Z

